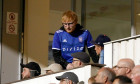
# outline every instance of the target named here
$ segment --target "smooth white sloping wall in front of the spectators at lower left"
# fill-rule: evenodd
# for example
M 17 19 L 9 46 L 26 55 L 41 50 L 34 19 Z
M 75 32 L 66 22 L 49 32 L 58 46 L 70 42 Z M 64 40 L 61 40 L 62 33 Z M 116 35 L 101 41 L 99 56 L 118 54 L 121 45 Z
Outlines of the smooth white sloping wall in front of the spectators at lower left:
M 53 73 L 50 75 L 42 75 L 35 78 L 30 78 L 26 80 L 16 81 L 10 84 L 59 84 L 60 81 L 56 80 L 56 76 L 61 76 L 65 72 L 74 72 L 78 78 L 80 83 L 79 84 L 88 84 L 88 79 L 91 76 L 95 76 L 97 71 L 104 65 L 100 64 L 89 64 L 83 67 L 65 70 L 57 73 Z

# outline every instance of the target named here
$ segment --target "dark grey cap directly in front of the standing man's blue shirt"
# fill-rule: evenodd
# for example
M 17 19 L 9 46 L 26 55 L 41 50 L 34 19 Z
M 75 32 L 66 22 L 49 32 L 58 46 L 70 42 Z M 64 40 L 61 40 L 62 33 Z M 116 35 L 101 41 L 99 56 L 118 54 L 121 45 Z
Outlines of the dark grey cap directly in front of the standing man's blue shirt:
M 80 61 L 82 61 L 83 63 L 89 63 L 90 62 L 90 57 L 86 52 L 76 52 L 76 53 L 72 53 L 71 56 L 73 58 L 77 58 Z

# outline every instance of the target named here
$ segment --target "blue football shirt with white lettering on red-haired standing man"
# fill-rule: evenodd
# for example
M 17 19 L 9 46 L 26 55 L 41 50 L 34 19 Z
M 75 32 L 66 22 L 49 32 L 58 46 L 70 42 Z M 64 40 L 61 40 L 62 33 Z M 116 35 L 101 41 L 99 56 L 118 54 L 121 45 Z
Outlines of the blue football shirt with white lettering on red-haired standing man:
M 58 30 L 54 34 L 52 49 L 61 50 L 62 57 L 72 62 L 71 53 L 85 51 L 85 46 L 93 47 L 92 36 L 88 30 L 79 30 L 73 34 Z

